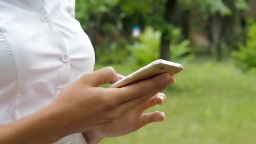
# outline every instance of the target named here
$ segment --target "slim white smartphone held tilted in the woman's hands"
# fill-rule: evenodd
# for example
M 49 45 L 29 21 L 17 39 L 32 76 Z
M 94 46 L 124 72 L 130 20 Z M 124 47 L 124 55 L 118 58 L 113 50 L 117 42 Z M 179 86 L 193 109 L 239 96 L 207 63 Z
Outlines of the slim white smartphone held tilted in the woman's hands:
M 151 77 L 162 73 L 169 73 L 170 75 L 175 75 L 179 73 L 179 71 L 181 71 L 182 69 L 183 67 L 179 63 L 158 59 L 152 63 L 149 63 L 145 67 L 133 72 L 132 74 L 124 77 L 123 79 L 113 83 L 107 88 L 124 87 L 130 85 L 131 83 L 150 79 Z

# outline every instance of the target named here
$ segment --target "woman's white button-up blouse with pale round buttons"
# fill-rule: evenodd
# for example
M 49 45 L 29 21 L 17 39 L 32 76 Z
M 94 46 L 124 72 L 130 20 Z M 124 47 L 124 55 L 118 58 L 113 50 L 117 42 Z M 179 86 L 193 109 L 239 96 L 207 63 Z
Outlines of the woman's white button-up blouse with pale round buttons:
M 94 68 L 74 0 L 0 0 L 0 124 L 30 115 Z M 61 130 L 61 129 L 60 129 Z M 57 143 L 86 143 L 82 134 Z

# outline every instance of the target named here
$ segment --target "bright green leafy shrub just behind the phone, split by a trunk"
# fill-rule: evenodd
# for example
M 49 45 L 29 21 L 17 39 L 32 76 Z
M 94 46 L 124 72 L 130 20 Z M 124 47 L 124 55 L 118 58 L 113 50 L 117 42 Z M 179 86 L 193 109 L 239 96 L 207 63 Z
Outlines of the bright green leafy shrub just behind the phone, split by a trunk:
M 191 55 L 184 56 L 190 52 L 190 41 L 181 41 L 181 35 L 179 28 L 172 29 L 170 44 L 172 61 L 191 58 Z M 160 58 L 160 41 L 161 32 L 154 31 L 152 27 L 146 27 L 144 33 L 139 37 L 139 41 L 132 45 L 127 45 L 127 49 L 131 52 L 132 59 L 138 65 L 146 65 Z M 181 43 L 178 43 L 178 41 L 181 41 Z

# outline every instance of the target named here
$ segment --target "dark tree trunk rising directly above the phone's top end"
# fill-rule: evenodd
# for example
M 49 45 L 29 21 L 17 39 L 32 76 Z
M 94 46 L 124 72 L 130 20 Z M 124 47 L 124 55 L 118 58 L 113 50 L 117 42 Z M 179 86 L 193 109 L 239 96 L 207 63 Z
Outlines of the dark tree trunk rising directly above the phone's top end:
M 172 23 L 174 20 L 174 10 L 177 4 L 177 0 L 167 0 L 165 4 L 165 14 L 164 20 L 166 23 Z M 168 32 L 162 32 L 161 36 L 161 48 L 160 48 L 160 58 L 170 61 L 170 38 L 168 37 Z

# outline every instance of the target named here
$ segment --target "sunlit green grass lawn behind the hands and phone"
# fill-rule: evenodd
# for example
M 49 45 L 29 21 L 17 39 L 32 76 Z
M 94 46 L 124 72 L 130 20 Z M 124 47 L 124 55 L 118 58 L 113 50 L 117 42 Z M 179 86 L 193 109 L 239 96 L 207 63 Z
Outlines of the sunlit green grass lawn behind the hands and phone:
M 166 103 L 149 110 L 164 111 L 165 122 L 101 143 L 256 143 L 256 76 L 229 62 L 183 66 L 176 83 L 164 91 Z M 123 75 L 137 69 L 128 63 L 113 67 Z

